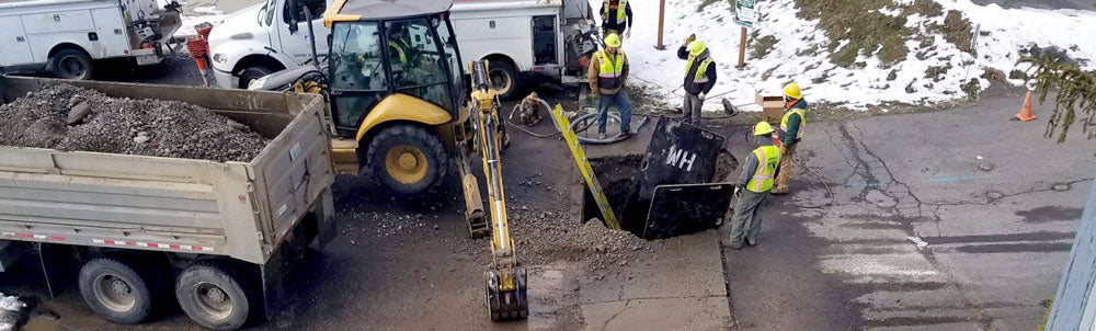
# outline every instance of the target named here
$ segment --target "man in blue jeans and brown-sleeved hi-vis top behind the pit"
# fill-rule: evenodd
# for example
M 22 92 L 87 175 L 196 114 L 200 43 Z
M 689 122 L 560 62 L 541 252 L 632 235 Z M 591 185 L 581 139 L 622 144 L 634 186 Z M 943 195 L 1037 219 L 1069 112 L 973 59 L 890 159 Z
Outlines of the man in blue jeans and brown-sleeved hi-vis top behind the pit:
M 610 33 L 605 36 L 605 49 L 594 53 L 590 61 L 590 94 L 597 100 L 597 137 L 605 139 L 605 122 L 609 106 L 616 105 L 620 112 L 620 134 L 631 133 L 631 100 L 624 89 L 628 80 L 628 57 L 620 49 L 620 36 Z

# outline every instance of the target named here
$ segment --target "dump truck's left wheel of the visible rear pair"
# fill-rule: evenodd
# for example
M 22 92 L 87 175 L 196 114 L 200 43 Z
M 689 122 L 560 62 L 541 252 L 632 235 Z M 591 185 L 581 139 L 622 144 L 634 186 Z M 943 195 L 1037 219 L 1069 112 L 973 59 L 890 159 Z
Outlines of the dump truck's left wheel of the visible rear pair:
M 148 318 L 152 293 L 126 260 L 101 258 L 80 269 L 80 295 L 95 313 L 115 323 L 136 324 Z

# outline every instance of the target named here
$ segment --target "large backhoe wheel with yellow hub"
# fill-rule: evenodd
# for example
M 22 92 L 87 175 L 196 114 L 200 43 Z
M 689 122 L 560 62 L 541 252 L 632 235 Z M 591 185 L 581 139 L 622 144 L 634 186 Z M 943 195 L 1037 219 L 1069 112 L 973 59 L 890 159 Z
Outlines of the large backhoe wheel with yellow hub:
M 448 167 L 442 139 L 425 128 L 395 125 L 369 142 L 366 160 L 373 176 L 400 194 L 419 194 L 442 182 Z

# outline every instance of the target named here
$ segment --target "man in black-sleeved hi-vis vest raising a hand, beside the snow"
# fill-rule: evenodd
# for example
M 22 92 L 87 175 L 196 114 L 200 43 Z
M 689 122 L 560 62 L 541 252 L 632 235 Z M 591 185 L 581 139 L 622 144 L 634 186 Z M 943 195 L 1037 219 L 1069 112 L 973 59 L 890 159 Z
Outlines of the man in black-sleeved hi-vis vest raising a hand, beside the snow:
M 677 58 L 688 59 L 685 64 L 685 102 L 682 114 L 685 123 L 700 125 L 700 109 L 704 98 L 716 85 L 716 64 L 711 60 L 708 44 L 697 41 L 696 35 L 685 38 L 685 44 L 677 48 Z

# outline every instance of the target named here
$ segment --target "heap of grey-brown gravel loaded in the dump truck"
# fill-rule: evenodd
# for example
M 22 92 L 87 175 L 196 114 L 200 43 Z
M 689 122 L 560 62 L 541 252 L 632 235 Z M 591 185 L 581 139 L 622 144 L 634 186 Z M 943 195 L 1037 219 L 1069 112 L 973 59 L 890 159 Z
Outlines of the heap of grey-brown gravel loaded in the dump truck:
M 269 142 L 193 104 L 111 98 L 66 84 L 0 105 L 3 146 L 247 162 Z

